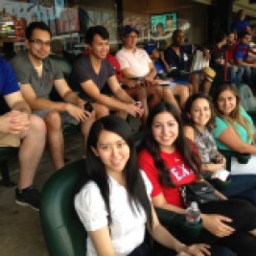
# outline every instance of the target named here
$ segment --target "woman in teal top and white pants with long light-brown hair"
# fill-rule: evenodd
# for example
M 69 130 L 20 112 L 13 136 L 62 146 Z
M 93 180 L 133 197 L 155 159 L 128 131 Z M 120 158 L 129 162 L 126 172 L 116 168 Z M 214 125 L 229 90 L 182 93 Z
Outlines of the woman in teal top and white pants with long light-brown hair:
M 213 135 L 218 148 L 251 155 L 246 164 L 241 164 L 236 157 L 232 157 L 232 174 L 256 175 L 255 128 L 250 116 L 240 105 L 236 87 L 228 83 L 221 84 L 216 89 L 214 104 L 217 117 Z

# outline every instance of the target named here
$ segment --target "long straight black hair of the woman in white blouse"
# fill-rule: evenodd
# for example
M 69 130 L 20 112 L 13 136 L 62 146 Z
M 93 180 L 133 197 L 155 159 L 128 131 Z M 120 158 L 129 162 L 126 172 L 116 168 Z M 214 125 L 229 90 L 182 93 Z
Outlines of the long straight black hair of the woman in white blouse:
M 81 181 L 82 185 L 86 184 L 90 180 L 93 180 L 98 185 L 102 197 L 105 200 L 105 206 L 108 213 L 108 223 L 111 223 L 112 219 L 109 203 L 108 175 L 106 174 L 104 163 L 92 151 L 92 148 L 97 148 L 97 143 L 103 130 L 111 131 L 118 134 L 128 144 L 129 158 L 126 168 L 123 171 L 127 184 L 128 201 L 133 211 L 134 207 L 132 202 L 134 202 L 137 210 L 140 209 L 139 206 L 142 206 L 151 225 L 151 203 L 147 196 L 146 186 L 144 184 L 142 175 L 139 171 L 134 139 L 128 123 L 122 118 L 112 115 L 105 116 L 97 120 L 92 125 L 87 140 L 87 153 L 85 159 L 84 174 Z

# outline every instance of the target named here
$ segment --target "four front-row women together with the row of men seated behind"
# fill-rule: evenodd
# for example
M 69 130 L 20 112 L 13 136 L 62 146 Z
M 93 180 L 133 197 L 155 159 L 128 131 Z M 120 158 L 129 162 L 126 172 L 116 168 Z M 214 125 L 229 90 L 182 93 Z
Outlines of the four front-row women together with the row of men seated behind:
M 12 67 L 0 59 L 0 90 L 11 108 L 0 117 L 0 145 L 20 144 L 15 201 L 39 209 L 40 193 L 33 183 L 45 142 L 58 170 L 64 166 L 62 127 L 81 124 L 86 168 L 75 206 L 88 231 L 87 255 L 149 255 L 150 248 L 143 243 L 146 223 L 151 236 L 178 255 L 214 255 L 218 248 L 208 244 L 219 244 L 227 253 L 216 255 L 254 255 L 255 129 L 236 88 L 229 83 L 218 86 L 212 103 L 207 96 L 215 76 L 211 69 L 200 75 L 203 94 L 198 93 L 196 72 L 181 74 L 163 86 L 150 56 L 136 46 L 138 34 L 135 27 L 125 26 L 124 46 L 114 58 L 105 27 L 87 30 L 88 49 L 72 71 L 79 94 L 49 58 L 51 32 L 43 22 L 27 27 L 27 51 L 11 59 Z M 167 66 L 174 66 L 174 58 L 185 65 L 183 42 L 184 33 L 176 30 L 173 45 L 164 52 Z M 53 87 L 62 102 L 50 99 Z M 87 104 L 91 109 L 84 109 Z M 125 121 L 128 114 L 141 118 L 145 133 L 138 162 Z M 228 188 L 216 191 L 218 201 L 199 205 L 200 235 L 191 240 L 175 234 L 177 240 L 159 223 L 151 204 L 184 215 L 179 187 L 224 169 L 225 158 L 217 147 L 248 153 L 247 163 L 232 157 Z M 219 162 L 214 161 L 217 156 Z M 172 255 L 164 247 L 160 250 Z

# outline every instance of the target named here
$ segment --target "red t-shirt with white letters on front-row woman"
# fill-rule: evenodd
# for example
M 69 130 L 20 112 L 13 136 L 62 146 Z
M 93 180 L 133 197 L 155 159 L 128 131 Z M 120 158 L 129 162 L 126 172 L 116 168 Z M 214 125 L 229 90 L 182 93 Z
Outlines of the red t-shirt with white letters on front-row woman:
M 163 194 L 166 201 L 178 207 L 183 207 L 178 187 L 184 184 L 192 183 L 196 175 L 187 165 L 184 164 L 178 151 L 167 153 L 161 151 L 161 157 L 169 168 L 169 174 L 175 182 L 176 187 L 163 187 L 158 180 L 158 171 L 154 166 L 153 158 L 149 151 L 141 151 L 139 154 L 140 168 L 151 180 L 152 192 L 151 198 Z

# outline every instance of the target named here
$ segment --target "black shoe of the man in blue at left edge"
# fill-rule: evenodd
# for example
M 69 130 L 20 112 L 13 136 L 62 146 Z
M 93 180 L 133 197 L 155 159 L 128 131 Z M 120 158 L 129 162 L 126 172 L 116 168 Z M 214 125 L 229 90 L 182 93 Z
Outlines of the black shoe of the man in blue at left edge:
M 34 186 L 30 186 L 21 191 L 16 188 L 15 202 L 21 206 L 31 206 L 35 211 L 39 211 L 40 193 Z

